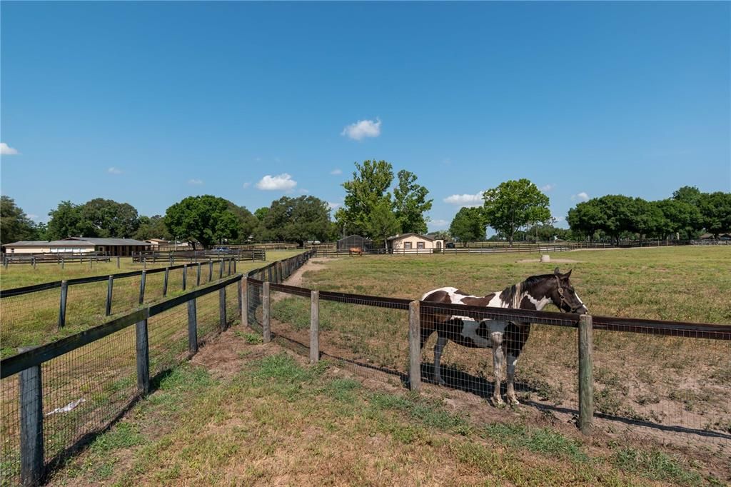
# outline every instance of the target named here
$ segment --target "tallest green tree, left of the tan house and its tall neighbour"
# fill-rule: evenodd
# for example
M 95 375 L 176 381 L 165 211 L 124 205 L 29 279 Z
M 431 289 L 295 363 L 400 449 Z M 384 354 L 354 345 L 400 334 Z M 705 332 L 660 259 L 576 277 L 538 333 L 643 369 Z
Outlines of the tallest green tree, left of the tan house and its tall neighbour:
M 391 194 L 388 188 L 393 181 L 393 167 L 390 162 L 367 160 L 355 163 L 355 171 L 350 181 L 345 181 L 344 205 L 336 212 L 338 227 L 344 233 L 364 233 L 370 227 L 371 212 L 376 207 L 388 205 L 391 208 Z M 373 235 L 371 235 L 373 236 Z

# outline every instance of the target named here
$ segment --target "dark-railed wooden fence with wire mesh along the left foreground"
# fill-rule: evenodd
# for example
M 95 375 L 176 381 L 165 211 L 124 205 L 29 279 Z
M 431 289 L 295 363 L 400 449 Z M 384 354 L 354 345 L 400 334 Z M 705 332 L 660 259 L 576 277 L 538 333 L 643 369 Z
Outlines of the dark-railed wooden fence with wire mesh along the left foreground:
M 310 256 L 267 268 L 284 279 Z M 193 266 L 177 268 L 186 267 Z M 143 282 L 147 273 L 140 274 Z M 235 316 L 243 321 L 249 301 L 242 280 L 236 274 L 0 360 L 2 485 L 42 482 L 49 467 L 148 393 L 151 377 L 197 352 L 201 339 L 224 331 Z

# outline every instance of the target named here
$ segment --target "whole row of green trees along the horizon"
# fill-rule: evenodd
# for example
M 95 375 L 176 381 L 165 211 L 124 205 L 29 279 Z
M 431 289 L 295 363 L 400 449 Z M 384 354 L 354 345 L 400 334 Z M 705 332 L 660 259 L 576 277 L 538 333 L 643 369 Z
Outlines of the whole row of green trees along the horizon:
M 62 201 L 49 212 L 48 224 L 35 223 L 2 196 L 0 238 L 58 240 L 71 236 L 162 238 L 209 247 L 245 241 L 334 241 L 346 235 L 372 238 L 385 246 L 397 233 L 426 233 L 433 200 L 407 170 L 394 174 L 390 162 L 355 163 L 352 178 L 342 184 L 344 205 L 333 218 L 330 205 L 314 196 L 281 197 L 252 214 L 244 206 L 213 195 L 191 196 L 167 208 L 164 215 L 141 216 L 129 203 L 95 198 L 77 205 Z M 607 195 L 578 203 L 567 215 L 569 229 L 555 227 L 550 200 L 528 179 L 504 181 L 482 194 L 482 205 L 461 208 L 449 231 L 439 238 L 619 241 L 642 238 L 697 238 L 702 232 L 718 237 L 731 232 L 731 193 L 704 193 L 683 186 L 665 200 Z

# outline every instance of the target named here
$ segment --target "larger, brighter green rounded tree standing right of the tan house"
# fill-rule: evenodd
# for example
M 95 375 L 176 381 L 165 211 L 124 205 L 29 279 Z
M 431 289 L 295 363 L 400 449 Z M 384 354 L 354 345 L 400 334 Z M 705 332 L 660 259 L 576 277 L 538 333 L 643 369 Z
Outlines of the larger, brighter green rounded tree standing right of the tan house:
M 488 224 L 507 236 L 512 246 L 515 231 L 529 223 L 550 219 L 548 196 L 528 179 L 505 181 L 482 195 Z

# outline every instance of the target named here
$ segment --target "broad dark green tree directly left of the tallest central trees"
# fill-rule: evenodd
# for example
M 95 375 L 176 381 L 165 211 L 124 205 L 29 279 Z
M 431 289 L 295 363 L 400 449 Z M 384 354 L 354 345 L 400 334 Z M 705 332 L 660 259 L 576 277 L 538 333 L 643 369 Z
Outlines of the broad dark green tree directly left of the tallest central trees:
M 330 235 L 330 205 L 314 196 L 281 197 L 273 201 L 258 235 L 267 240 L 325 241 Z

